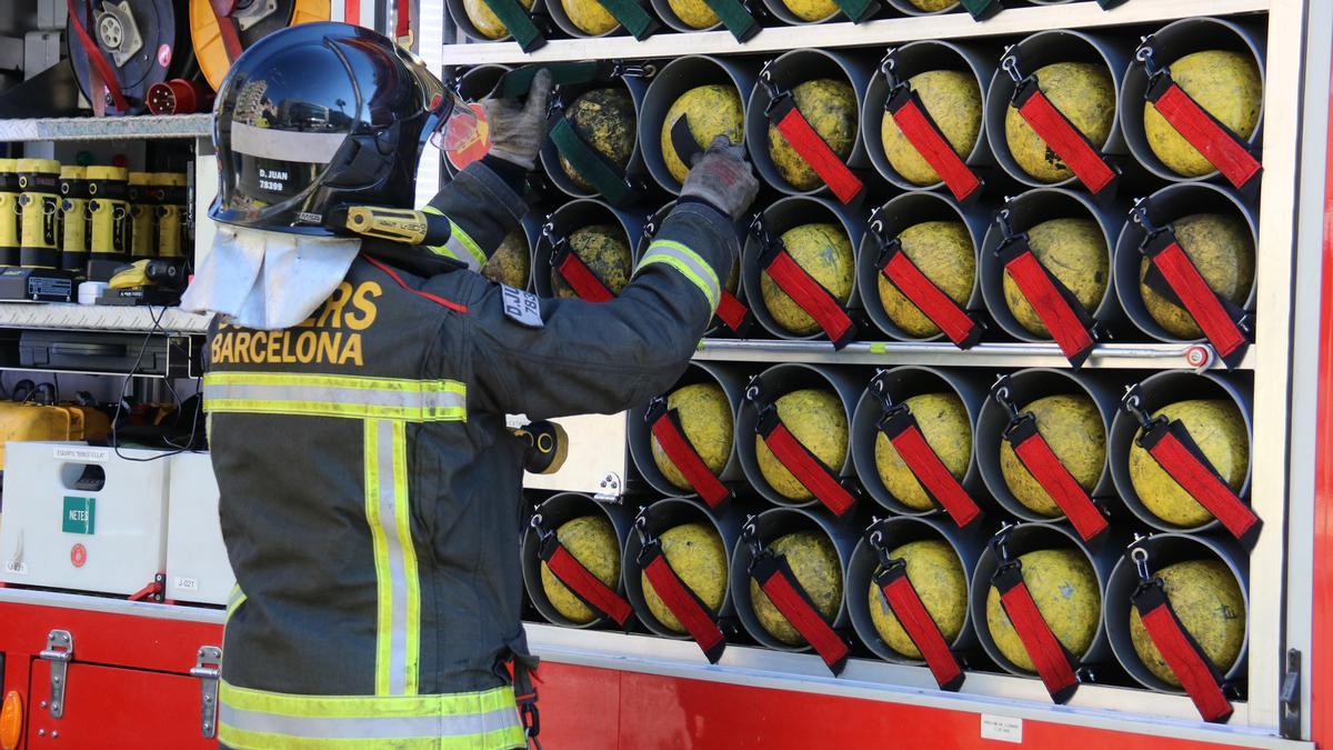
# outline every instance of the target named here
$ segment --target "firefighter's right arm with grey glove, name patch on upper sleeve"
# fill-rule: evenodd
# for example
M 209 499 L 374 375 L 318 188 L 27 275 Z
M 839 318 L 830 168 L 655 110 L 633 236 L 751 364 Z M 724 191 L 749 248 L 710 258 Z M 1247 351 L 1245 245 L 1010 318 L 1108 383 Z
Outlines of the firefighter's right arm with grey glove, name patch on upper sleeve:
M 738 256 L 734 220 L 757 191 L 741 147 L 718 139 L 616 299 L 545 299 L 524 323 L 505 311 L 513 292 L 476 284 L 463 318 L 481 406 L 533 419 L 609 414 L 669 387 L 717 310 Z

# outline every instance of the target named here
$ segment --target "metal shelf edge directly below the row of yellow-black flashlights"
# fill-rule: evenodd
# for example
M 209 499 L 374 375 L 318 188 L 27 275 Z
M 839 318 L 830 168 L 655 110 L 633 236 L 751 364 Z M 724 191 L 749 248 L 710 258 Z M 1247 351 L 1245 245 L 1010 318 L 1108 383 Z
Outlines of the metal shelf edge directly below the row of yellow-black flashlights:
M 157 324 L 155 326 L 155 320 Z M 49 303 L 0 303 L 0 328 L 56 328 L 147 334 L 207 334 L 211 315 L 176 307 L 104 307 Z

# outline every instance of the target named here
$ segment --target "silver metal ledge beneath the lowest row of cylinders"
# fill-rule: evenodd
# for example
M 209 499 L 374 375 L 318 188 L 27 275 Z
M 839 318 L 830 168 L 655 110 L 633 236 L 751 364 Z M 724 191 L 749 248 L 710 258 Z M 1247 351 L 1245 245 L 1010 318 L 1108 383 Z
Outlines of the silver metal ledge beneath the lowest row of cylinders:
M 1085 685 L 1066 706 L 1054 706 L 1041 682 L 1005 674 L 969 673 L 960 693 L 936 689 L 925 667 L 850 659 L 840 677 L 829 674 L 814 654 L 728 646 L 717 665 L 704 661 L 698 646 L 647 635 L 579 630 L 524 623 L 537 657 L 560 663 L 725 682 L 821 695 L 910 703 L 954 711 L 976 711 L 1062 725 L 1133 730 L 1153 737 L 1216 742 L 1240 747 L 1312 747 L 1274 737 L 1273 730 L 1246 726 L 1249 707 L 1234 703 L 1228 725 L 1198 718 L 1189 698 L 1148 690 Z

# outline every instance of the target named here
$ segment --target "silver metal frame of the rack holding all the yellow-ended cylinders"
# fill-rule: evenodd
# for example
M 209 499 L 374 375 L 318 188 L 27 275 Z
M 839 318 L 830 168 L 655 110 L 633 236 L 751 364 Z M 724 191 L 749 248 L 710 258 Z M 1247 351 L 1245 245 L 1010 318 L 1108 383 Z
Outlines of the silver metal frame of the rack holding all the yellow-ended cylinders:
M 1316 3 L 1317 4 L 1317 3 Z M 965 13 L 942 16 L 889 17 L 862 24 L 825 23 L 801 27 L 765 27 L 756 37 L 738 44 L 725 31 L 672 33 L 659 32 L 644 41 L 629 36 L 599 39 L 553 39 L 535 53 L 525 55 L 516 43 L 475 43 L 461 40 L 461 33 L 447 20 L 444 37 L 461 40 L 445 44 L 441 63 L 445 67 L 481 64 L 519 65 L 537 61 L 584 59 L 669 59 L 681 55 L 777 53 L 793 48 L 884 48 L 916 39 L 957 40 L 989 36 L 1021 37 L 1045 29 L 1097 29 L 1124 25 L 1157 28 L 1189 16 L 1266 15 L 1266 51 L 1264 101 L 1264 190 L 1258 203 L 1260 235 L 1257 246 L 1257 346 L 1240 370 L 1254 374 L 1253 402 L 1253 486 L 1252 503 L 1265 520 L 1265 532 L 1250 555 L 1250 621 L 1249 621 L 1249 697 L 1237 703 L 1236 714 L 1225 726 L 1209 726 L 1198 721 L 1190 702 L 1184 697 L 1162 695 L 1146 690 L 1126 690 L 1106 686 L 1084 686 L 1065 706 L 1052 706 L 1036 679 L 998 674 L 969 674 L 961 694 L 949 695 L 933 690 L 925 669 L 897 667 L 878 662 L 853 659 L 841 678 L 829 677 L 814 655 L 774 653 L 761 649 L 730 646 L 720 665 L 709 667 L 689 642 L 673 642 L 640 635 L 621 635 L 595 630 L 568 630 L 529 623 L 529 639 L 535 650 L 548 659 L 572 663 L 629 669 L 670 677 L 738 682 L 788 690 L 805 690 L 857 695 L 862 698 L 940 706 L 964 711 L 992 713 L 1045 722 L 1080 726 L 1114 726 L 1160 737 L 1178 737 L 1232 742 L 1240 745 L 1276 745 L 1280 727 L 1288 737 L 1300 737 L 1300 726 L 1284 722 L 1280 687 L 1286 674 L 1288 647 L 1309 647 L 1309 622 L 1284 617 L 1288 601 L 1284 575 L 1285 550 L 1308 535 L 1288 522 L 1288 471 L 1281 456 L 1292 448 L 1289 414 L 1289 383 L 1293 367 L 1292 331 L 1297 302 L 1317 308 L 1317 298 L 1309 299 L 1306 284 L 1297 290 L 1297 251 L 1314 252 L 1320 236 L 1297 236 L 1298 180 L 1302 177 L 1300 153 L 1302 149 L 1302 99 L 1308 81 L 1302 77 L 1306 56 L 1324 63 L 1326 69 L 1326 31 L 1308 32 L 1306 13 L 1310 8 L 1302 0 L 1130 0 L 1110 11 L 1092 1 L 1073 4 L 1022 7 L 1005 9 L 985 23 L 976 23 Z M 1312 4 L 1313 5 L 1313 4 Z M 1317 16 L 1322 13 L 1313 11 Z M 1312 27 L 1313 28 L 1313 27 Z M 1302 40 L 1306 44 L 1298 44 Z M 1322 73 L 1316 72 L 1314 76 Z M 985 84 L 985 81 L 982 81 Z M 1324 81 L 1326 84 L 1326 80 Z M 1326 88 L 1313 87 L 1320 95 L 1310 99 L 1318 108 Z M 1318 120 L 1314 120 L 1318 123 Z M 1324 131 L 1308 136 L 1321 152 Z M 1320 173 L 1322 173 L 1320 171 Z M 1305 185 L 1308 192 L 1310 185 Z M 1309 230 L 1309 224 L 1305 227 Z M 1297 240 L 1301 239 L 1298 247 Z M 1297 298 L 1300 294 L 1300 299 Z M 1304 307 L 1310 308 L 1310 307 Z M 1118 344 L 1098 346 L 1085 367 L 1110 370 L 1161 370 L 1184 367 L 1185 346 L 1181 344 Z M 697 360 L 745 363 L 838 363 L 860 366 L 938 364 L 992 368 L 1018 368 L 1030 366 L 1068 367 L 1053 344 L 982 344 L 960 352 L 948 344 L 917 343 L 854 343 L 834 352 L 828 343 L 812 342 L 748 342 L 705 340 Z M 1288 539 L 1290 534 L 1293 540 Z M 1306 578 L 1308 581 L 1308 578 Z M 1306 611 L 1306 603 L 1296 603 L 1297 613 Z M 1306 651 L 1308 653 L 1308 651 Z M 1301 687 L 1300 690 L 1305 690 Z M 1298 690 L 1298 691 L 1300 691 Z M 1305 699 L 1308 703 L 1308 695 Z M 1309 721 L 1309 717 L 1305 717 Z M 1300 717 L 1297 718 L 1300 723 Z M 1294 734 L 1293 734 L 1294 731 Z M 1308 730 L 1306 730 L 1308 731 Z

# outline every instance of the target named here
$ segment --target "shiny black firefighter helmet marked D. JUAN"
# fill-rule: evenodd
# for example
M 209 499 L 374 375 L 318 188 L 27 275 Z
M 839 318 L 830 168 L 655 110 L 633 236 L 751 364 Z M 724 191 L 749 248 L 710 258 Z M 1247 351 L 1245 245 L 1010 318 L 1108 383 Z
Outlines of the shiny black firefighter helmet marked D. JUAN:
M 427 141 L 467 139 L 477 115 L 407 49 L 341 23 L 288 27 L 232 65 L 213 107 L 225 224 L 332 235 L 347 206 L 411 208 Z

